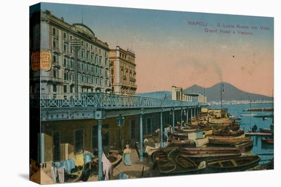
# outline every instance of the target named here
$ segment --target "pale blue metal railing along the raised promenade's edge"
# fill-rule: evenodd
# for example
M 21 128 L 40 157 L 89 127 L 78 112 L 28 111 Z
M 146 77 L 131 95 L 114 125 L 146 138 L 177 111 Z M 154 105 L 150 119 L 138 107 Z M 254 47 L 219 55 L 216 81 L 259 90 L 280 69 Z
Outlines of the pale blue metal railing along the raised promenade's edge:
M 203 106 L 207 103 L 167 100 L 152 97 L 116 95 L 109 93 L 72 93 L 61 94 L 53 97 L 52 94 L 30 96 L 30 103 L 36 104 L 40 99 L 41 108 L 166 108 Z M 36 107 L 36 106 L 35 106 Z

